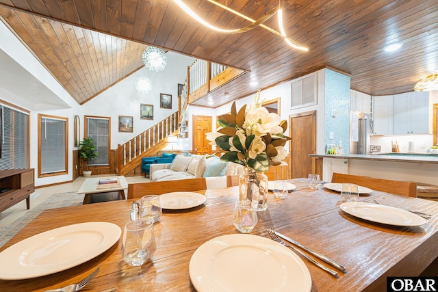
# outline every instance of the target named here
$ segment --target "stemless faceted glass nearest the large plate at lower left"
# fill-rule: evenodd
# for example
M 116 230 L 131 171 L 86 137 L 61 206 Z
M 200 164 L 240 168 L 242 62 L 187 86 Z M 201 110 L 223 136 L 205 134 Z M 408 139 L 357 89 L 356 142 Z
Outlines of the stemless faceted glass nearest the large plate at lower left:
M 128 265 L 140 266 L 157 250 L 153 223 L 146 220 L 135 220 L 125 224 L 123 230 L 123 261 Z

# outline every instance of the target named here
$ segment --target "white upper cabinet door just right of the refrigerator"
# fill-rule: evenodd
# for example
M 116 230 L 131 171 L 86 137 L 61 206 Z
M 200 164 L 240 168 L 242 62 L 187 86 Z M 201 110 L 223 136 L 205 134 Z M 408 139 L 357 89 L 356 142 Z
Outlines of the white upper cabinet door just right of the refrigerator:
M 374 135 L 394 134 L 394 96 L 381 95 L 372 97 L 372 120 Z

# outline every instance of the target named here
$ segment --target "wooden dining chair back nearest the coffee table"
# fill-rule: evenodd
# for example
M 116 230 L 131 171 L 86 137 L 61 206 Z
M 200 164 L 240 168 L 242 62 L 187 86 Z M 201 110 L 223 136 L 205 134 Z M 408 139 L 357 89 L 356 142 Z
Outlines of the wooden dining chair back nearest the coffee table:
M 146 195 L 162 195 L 172 191 L 199 191 L 207 189 L 205 178 L 187 178 L 177 181 L 154 181 L 151 183 L 130 183 L 128 185 L 128 200 L 142 198 Z

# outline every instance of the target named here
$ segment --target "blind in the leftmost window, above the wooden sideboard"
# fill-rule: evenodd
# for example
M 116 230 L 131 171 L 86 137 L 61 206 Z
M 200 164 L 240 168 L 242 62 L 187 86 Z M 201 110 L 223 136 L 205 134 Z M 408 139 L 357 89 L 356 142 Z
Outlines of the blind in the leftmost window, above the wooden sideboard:
M 29 114 L 0 105 L 0 169 L 29 168 Z

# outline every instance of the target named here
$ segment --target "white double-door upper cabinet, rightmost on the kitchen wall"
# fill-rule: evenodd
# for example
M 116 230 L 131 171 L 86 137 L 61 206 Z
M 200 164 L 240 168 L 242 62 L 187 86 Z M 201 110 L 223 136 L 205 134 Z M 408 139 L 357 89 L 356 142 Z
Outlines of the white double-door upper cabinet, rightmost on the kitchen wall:
M 394 134 L 429 133 L 428 92 L 407 92 L 394 96 Z

